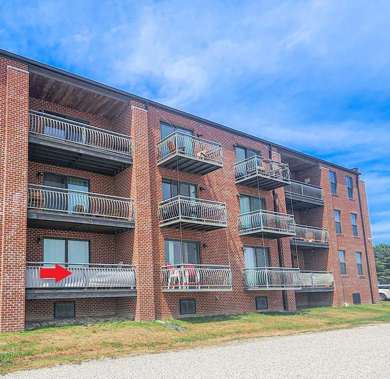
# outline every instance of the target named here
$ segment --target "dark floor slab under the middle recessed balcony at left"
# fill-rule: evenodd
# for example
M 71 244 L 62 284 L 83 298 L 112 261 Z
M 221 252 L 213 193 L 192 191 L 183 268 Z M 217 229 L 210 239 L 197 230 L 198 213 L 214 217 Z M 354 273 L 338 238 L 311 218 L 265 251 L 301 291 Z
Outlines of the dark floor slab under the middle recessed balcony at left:
M 27 211 L 27 226 L 42 229 L 115 234 L 134 228 L 134 222 L 104 217 L 29 210 Z

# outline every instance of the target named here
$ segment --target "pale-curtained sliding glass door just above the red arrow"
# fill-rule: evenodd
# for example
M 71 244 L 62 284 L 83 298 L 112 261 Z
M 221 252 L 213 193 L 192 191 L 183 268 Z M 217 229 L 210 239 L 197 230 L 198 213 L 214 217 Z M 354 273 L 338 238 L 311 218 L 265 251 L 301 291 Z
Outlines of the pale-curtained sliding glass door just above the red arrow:
M 72 265 L 84 263 L 89 264 L 89 241 L 65 239 L 65 238 L 43 238 L 43 262 L 71 263 L 67 267 L 81 267 Z M 53 265 L 45 265 L 53 266 Z

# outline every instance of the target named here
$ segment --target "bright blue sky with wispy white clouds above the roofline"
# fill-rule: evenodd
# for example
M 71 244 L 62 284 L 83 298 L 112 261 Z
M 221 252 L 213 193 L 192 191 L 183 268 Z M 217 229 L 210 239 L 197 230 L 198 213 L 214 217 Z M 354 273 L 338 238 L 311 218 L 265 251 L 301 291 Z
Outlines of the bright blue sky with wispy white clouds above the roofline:
M 98 5 L 97 5 L 98 4 Z M 346 167 L 390 243 L 389 1 L 3 1 L 0 48 Z

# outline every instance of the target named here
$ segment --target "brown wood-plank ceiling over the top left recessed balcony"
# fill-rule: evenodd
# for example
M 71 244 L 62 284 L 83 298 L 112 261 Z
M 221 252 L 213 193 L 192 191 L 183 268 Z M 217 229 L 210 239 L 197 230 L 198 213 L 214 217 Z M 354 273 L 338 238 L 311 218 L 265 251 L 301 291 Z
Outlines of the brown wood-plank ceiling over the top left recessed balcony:
M 128 105 L 128 102 L 36 73 L 30 73 L 30 96 L 108 119 Z

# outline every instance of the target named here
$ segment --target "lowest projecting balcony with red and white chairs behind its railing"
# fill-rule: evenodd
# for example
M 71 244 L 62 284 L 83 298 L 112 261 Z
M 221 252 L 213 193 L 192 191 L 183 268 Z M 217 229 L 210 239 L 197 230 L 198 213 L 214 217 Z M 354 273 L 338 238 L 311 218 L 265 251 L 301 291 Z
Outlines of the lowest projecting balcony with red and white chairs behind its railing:
M 163 292 L 232 291 L 230 266 L 167 265 L 161 267 Z

